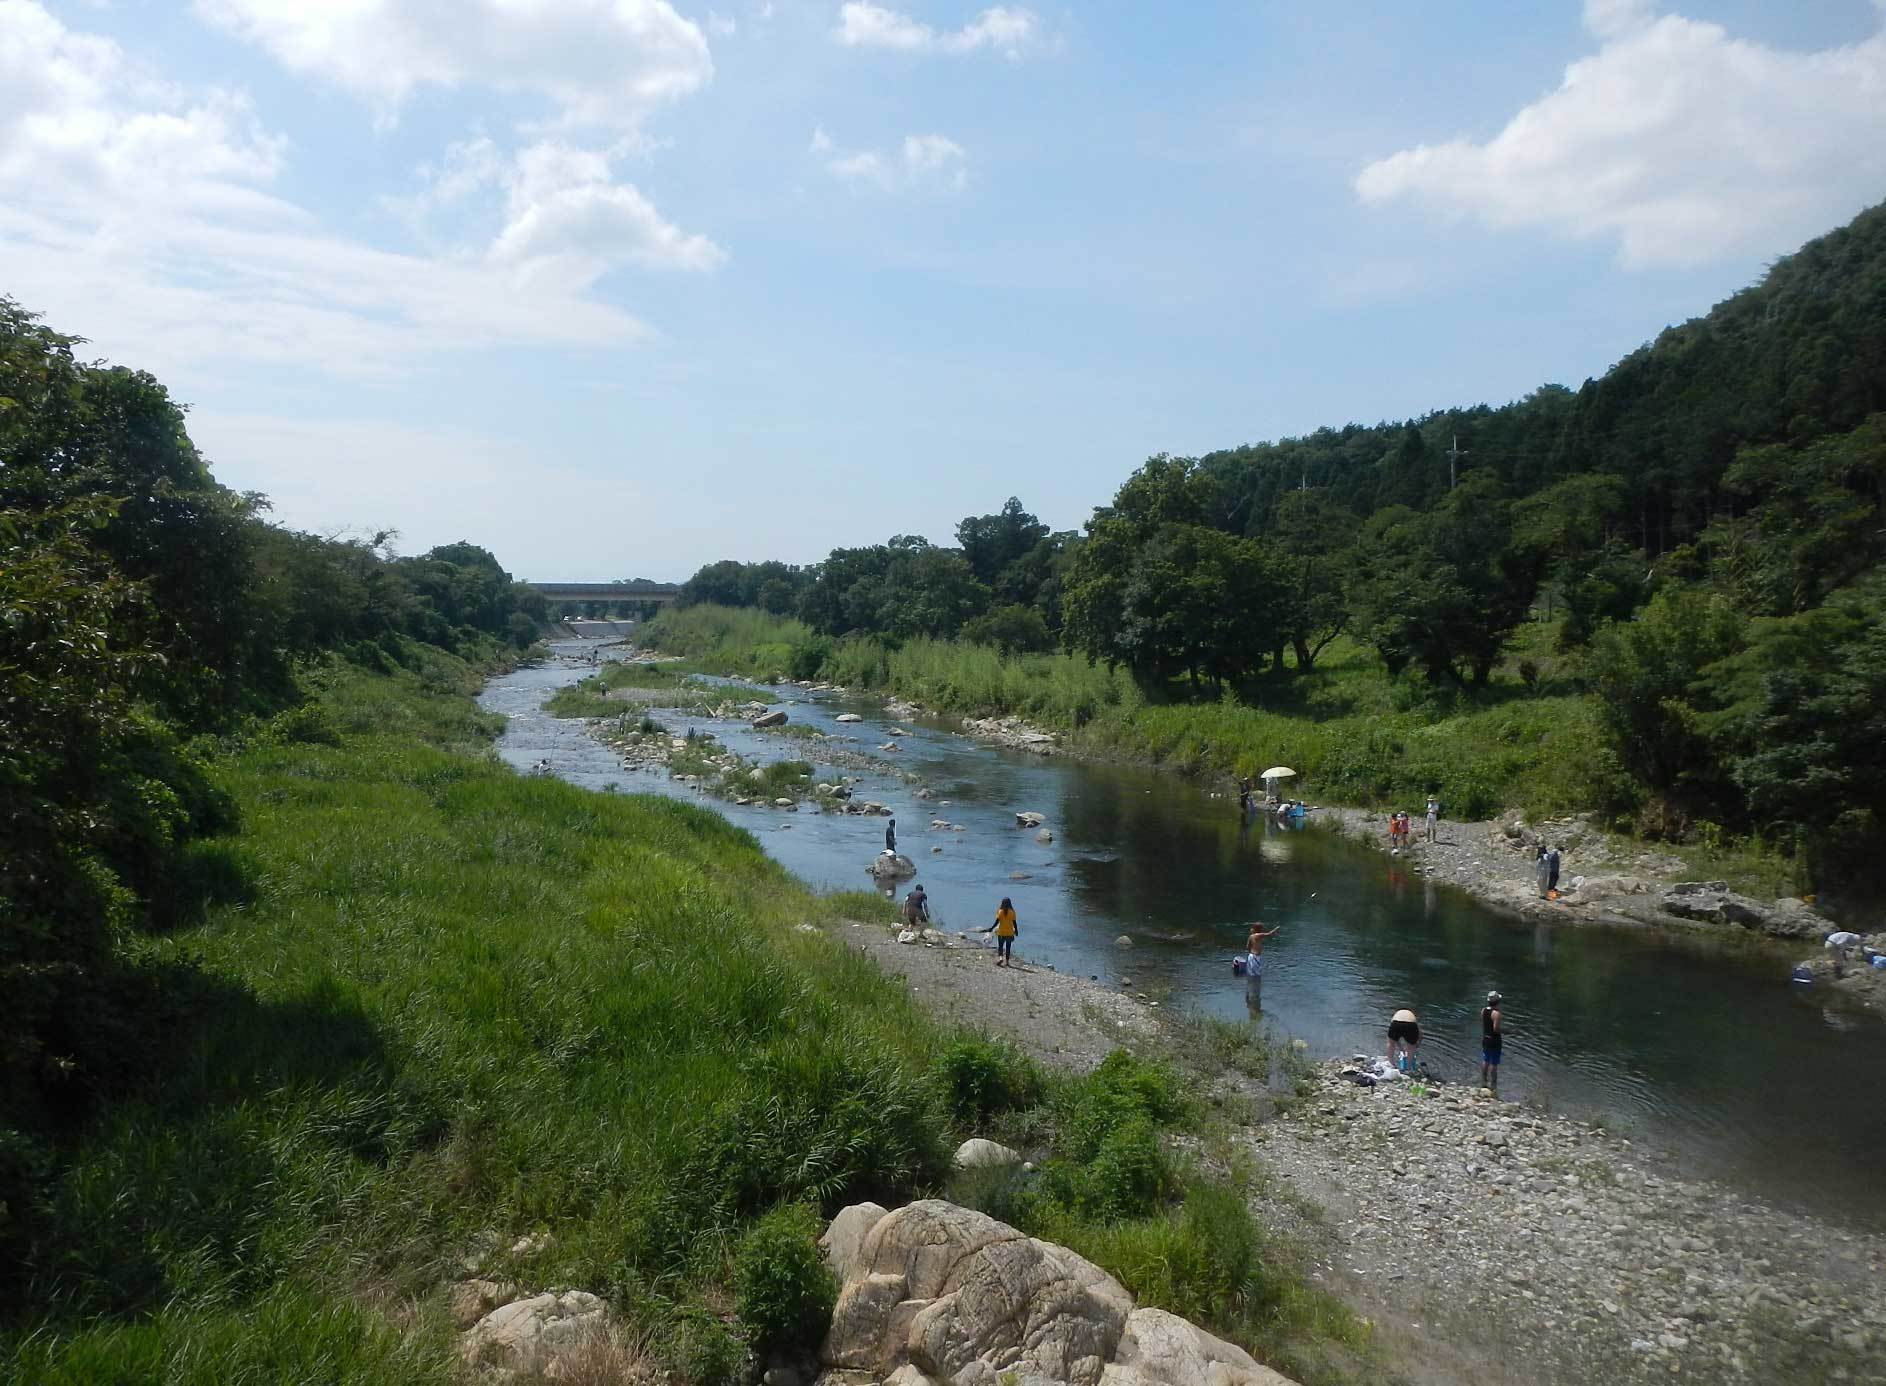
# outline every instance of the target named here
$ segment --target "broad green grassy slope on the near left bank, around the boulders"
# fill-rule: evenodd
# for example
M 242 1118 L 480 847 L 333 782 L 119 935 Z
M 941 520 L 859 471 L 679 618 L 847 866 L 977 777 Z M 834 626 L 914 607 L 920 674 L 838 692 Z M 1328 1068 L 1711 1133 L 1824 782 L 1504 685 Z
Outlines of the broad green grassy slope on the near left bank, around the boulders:
M 1337 1378 L 1360 1329 L 1266 1245 L 1247 1175 L 1171 1152 L 1213 1120 L 1173 1071 L 1045 1077 L 941 1031 L 798 928 L 873 896 L 807 894 L 707 811 L 511 773 L 468 681 L 332 664 L 228 749 L 243 826 L 196 860 L 221 903 L 136 945 L 181 999 L 153 1077 L 0 1211 L 32 1233 L 0 1377 L 458 1380 L 443 1286 L 485 1248 L 492 1279 L 604 1294 L 617 1361 L 732 1380 L 830 1294 L 792 1209 L 949 1188 L 984 1131 L 1043 1175 L 981 1196 Z

